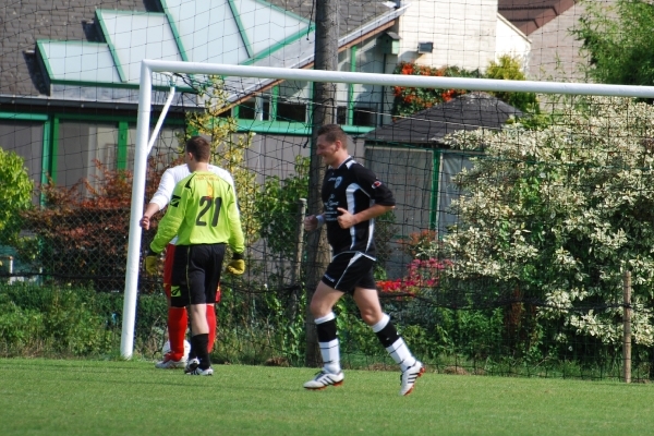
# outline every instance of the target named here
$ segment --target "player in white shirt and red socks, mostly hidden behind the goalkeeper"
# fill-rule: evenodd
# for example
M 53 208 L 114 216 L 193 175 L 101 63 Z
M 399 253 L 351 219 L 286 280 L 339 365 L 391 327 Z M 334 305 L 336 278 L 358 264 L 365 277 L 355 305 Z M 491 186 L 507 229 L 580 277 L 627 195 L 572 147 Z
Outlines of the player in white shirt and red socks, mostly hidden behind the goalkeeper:
M 199 141 L 202 138 L 192 138 L 193 141 Z M 191 141 L 191 140 L 190 140 Z M 204 141 L 204 140 L 203 140 Z M 208 143 L 207 143 L 208 145 Z M 231 174 L 222 168 L 207 165 L 208 171 L 215 173 L 220 179 L 225 180 L 231 186 L 231 191 L 234 195 L 235 202 L 235 189 L 234 182 Z M 141 227 L 149 229 L 150 218 L 157 211 L 165 208 L 171 199 L 172 191 L 182 179 L 190 175 L 191 171 L 187 165 L 180 165 L 173 168 L 169 168 L 161 175 L 161 181 L 157 192 L 147 205 L 146 210 L 141 219 Z M 240 227 L 239 227 L 240 229 Z M 186 335 L 186 326 L 189 324 L 187 312 L 184 306 L 175 307 L 171 305 L 170 292 L 171 292 L 171 278 L 172 267 L 175 252 L 177 237 L 166 247 L 166 261 L 164 266 L 164 289 L 168 300 L 168 338 L 170 342 L 170 352 L 164 355 L 164 360 L 157 362 L 155 366 L 157 368 L 181 368 L 186 365 L 186 359 L 184 355 L 184 338 Z M 242 250 L 241 250 L 242 251 Z M 158 258 L 156 256 L 148 256 L 146 258 L 146 269 L 148 274 L 158 274 Z M 220 288 L 218 287 L 216 292 L 216 302 L 220 301 Z M 214 341 L 216 339 L 216 311 L 214 304 L 206 304 L 206 320 L 208 325 L 208 343 L 207 350 L 210 352 L 214 349 Z

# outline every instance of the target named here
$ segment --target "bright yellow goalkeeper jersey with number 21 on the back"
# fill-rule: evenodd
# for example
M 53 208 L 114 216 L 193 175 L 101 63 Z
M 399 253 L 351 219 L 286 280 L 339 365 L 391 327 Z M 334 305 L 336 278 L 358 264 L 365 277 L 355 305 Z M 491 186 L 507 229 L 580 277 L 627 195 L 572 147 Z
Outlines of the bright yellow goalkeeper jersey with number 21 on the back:
M 229 243 L 234 253 L 243 253 L 243 229 L 233 187 L 209 171 L 182 179 L 174 186 L 150 249 L 161 253 L 175 234 L 178 245 Z

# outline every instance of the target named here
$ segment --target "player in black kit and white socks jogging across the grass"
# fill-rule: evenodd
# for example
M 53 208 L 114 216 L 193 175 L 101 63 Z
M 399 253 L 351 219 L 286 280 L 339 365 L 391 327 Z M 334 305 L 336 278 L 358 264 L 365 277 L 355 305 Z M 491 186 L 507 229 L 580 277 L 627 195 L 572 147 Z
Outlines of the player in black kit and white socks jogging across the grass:
M 413 390 L 424 373 L 398 335 L 390 317 L 382 311 L 373 277 L 375 264 L 375 217 L 395 208 L 390 190 L 348 154 L 348 136 L 336 124 L 318 130 L 317 155 L 328 165 L 323 181 L 324 213 L 304 220 L 307 231 L 327 226 L 332 258 L 311 301 L 324 366 L 306 382 L 306 389 L 324 389 L 343 383 L 334 305 L 346 293 L 354 299 L 363 320 L 372 327 L 382 346 L 400 365 L 400 395 Z

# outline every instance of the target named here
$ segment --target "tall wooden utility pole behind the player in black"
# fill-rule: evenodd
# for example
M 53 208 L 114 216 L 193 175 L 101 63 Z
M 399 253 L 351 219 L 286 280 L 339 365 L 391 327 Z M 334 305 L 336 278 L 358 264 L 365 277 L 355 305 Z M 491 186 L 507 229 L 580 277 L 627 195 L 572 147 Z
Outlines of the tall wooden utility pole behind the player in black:
M 339 0 L 316 1 L 316 36 L 314 69 L 336 71 L 338 69 L 338 3 Z M 311 137 L 311 171 L 308 178 L 308 211 L 317 215 L 323 211 L 320 186 L 325 175 L 325 166 L 316 156 L 317 130 L 325 124 L 336 122 L 336 84 L 314 82 Z M 314 317 L 308 303 L 314 294 L 327 265 L 329 245 L 325 229 L 318 229 L 307 237 L 306 267 L 306 366 L 318 366 L 320 353 Z

